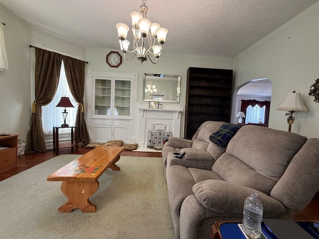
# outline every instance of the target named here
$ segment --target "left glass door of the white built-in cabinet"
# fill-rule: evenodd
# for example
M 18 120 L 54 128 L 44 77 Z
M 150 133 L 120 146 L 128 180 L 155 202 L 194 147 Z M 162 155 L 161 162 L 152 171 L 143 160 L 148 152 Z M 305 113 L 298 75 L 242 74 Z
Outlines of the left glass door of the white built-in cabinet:
M 111 116 L 112 80 L 95 80 L 95 115 Z

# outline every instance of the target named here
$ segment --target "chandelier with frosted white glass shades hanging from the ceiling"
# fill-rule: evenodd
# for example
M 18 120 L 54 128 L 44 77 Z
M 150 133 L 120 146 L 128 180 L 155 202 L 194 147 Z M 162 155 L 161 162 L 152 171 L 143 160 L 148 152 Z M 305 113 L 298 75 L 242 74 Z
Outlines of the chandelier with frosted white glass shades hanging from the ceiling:
M 164 27 L 160 27 L 158 23 L 151 23 L 149 19 L 146 18 L 146 13 L 148 11 L 148 6 L 146 5 L 146 0 L 143 0 L 143 5 L 141 5 L 141 13 L 137 11 L 131 12 L 132 18 L 132 31 L 133 31 L 133 50 L 129 51 L 130 41 L 126 39 L 129 26 L 125 23 L 119 22 L 116 24 L 118 29 L 118 36 L 120 38 L 119 43 L 121 50 L 124 53 L 124 58 L 126 60 L 131 60 L 135 55 L 137 55 L 138 60 L 141 64 L 147 61 L 149 58 L 153 64 L 158 63 L 158 58 L 160 57 L 160 52 L 162 50 L 162 44 L 164 44 L 166 39 L 166 34 L 168 30 Z M 156 39 L 159 45 L 156 45 Z M 133 53 L 133 56 L 127 58 L 126 53 Z M 153 55 L 156 59 L 154 62 L 150 57 Z

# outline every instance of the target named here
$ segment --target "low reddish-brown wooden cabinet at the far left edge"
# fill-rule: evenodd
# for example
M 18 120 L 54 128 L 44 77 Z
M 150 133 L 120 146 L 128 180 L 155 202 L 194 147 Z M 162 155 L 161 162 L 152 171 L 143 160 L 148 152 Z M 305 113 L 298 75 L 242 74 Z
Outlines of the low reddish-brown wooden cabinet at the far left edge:
M 0 136 L 0 172 L 17 165 L 18 134 Z

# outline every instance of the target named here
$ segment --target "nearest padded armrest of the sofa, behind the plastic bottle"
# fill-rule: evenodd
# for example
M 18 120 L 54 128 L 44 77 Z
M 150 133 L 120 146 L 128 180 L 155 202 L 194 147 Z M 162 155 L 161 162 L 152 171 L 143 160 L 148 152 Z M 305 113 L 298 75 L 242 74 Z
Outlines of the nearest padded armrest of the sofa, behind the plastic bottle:
M 242 214 L 245 199 L 256 192 L 263 204 L 263 215 L 277 218 L 285 215 L 286 208 L 276 199 L 253 188 L 230 184 L 221 180 L 205 180 L 192 187 L 197 200 L 208 210 L 225 215 Z

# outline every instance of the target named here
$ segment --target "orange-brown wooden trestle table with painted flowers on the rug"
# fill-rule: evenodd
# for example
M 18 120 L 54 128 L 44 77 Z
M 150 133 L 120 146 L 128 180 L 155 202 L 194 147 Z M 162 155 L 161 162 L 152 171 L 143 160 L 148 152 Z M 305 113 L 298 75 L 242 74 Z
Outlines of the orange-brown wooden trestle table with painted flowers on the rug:
M 96 212 L 96 205 L 89 198 L 98 190 L 98 179 L 107 168 L 120 170 L 115 163 L 123 149 L 96 147 L 48 176 L 47 181 L 63 181 L 61 191 L 68 201 L 59 207 L 59 212 L 69 213 L 74 208 L 79 208 L 82 213 Z

